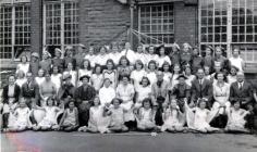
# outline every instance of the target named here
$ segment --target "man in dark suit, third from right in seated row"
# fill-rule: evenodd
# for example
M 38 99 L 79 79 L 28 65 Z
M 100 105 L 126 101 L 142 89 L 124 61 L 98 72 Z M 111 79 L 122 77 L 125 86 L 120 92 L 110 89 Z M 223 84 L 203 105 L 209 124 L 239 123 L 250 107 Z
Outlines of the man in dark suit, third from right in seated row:
M 205 73 L 203 68 L 197 69 L 197 78 L 192 83 L 192 97 L 189 106 L 194 106 L 198 99 L 204 99 L 207 106 L 211 106 L 212 100 L 212 84 L 210 80 L 204 78 Z

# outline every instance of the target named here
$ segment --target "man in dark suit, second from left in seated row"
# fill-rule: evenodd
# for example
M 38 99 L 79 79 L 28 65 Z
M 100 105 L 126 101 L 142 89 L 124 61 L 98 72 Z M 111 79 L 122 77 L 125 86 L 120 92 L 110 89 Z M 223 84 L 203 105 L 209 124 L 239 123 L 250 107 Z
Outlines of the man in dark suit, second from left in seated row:
M 22 85 L 22 97 L 26 100 L 28 107 L 32 104 L 38 104 L 39 101 L 39 86 L 34 80 L 33 74 L 28 72 L 26 74 L 27 81 Z

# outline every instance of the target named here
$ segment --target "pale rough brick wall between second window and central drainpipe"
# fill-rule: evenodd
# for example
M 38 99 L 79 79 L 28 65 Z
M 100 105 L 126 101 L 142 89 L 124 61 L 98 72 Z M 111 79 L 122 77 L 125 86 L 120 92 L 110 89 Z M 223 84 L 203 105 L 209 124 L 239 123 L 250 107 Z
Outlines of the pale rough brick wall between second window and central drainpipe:
M 117 0 L 79 0 L 79 40 L 86 46 L 105 45 L 113 37 L 127 40 L 130 7 Z M 124 31 L 123 34 L 121 34 Z

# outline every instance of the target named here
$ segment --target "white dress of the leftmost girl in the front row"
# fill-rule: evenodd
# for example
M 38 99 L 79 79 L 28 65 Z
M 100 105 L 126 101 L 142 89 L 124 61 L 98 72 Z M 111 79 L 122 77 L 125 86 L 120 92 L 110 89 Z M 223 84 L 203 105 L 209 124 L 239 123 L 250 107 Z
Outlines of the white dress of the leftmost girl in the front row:
M 30 111 L 28 107 L 17 107 L 14 112 L 15 121 L 14 124 L 9 124 L 9 127 L 28 127 L 29 126 L 29 114 Z

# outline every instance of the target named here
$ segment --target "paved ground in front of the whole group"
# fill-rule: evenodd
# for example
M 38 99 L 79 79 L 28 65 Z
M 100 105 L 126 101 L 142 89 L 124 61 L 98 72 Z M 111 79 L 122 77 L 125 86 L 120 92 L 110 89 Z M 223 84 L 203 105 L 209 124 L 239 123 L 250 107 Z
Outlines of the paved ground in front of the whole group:
M 1 152 L 256 152 L 257 136 L 81 132 L 1 134 Z

